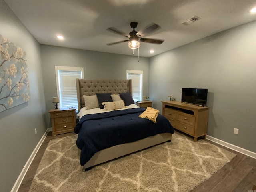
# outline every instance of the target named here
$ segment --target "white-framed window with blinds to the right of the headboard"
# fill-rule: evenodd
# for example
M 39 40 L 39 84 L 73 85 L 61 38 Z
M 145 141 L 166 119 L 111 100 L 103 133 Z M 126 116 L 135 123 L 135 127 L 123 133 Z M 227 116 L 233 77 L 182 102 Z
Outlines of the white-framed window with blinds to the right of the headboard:
M 142 100 L 143 71 L 126 70 L 127 79 L 132 79 L 132 98 L 134 101 Z

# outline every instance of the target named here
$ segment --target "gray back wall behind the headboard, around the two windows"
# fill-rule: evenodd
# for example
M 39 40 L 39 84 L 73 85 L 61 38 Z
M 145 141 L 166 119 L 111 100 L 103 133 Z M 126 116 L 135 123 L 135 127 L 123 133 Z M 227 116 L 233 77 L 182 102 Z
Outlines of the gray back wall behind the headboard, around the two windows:
M 132 53 L 132 51 L 131 51 Z M 148 94 L 149 58 L 104 52 L 41 45 L 42 74 L 46 110 L 54 108 L 52 98 L 57 96 L 55 66 L 84 68 L 86 79 L 126 79 L 126 70 L 143 71 L 143 95 Z M 47 115 L 51 127 L 50 114 Z

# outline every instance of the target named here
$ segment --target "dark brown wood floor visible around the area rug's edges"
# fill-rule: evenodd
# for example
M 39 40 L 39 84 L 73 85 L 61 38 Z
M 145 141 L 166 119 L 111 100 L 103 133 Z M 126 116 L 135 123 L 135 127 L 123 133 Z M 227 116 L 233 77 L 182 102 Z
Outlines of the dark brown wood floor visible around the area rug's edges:
M 67 133 L 52 137 L 51 132 L 48 133 L 32 164 L 30 165 L 18 192 L 28 192 L 36 173 L 36 169 L 38 168 L 49 141 L 72 135 L 75 134 Z M 214 142 L 211 143 L 215 144 Z M 224 146 L 218 144 L 215 145 L 235 153 L 236 157 L 218 172 L 213 174 L 211 178 L 192 190 L 192 192 L 253 192 L 253 190 L 256 192 L 256 159 Z

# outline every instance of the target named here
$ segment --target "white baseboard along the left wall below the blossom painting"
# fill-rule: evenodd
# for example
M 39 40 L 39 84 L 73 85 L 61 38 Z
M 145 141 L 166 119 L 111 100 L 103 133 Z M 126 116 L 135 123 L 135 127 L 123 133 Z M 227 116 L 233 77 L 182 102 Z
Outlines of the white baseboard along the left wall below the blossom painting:
M 49 128 L 46 130 L 46 132 L 44 133 L 44 135 L 42 136 L 42 138 L 40 139 L 40 141 L 38 142 L 38 144 L 36 145 L 36 148 L 34 149 L 34 151 L 32 152 L 32 154 L 30 155 L 30 157 L 28 158 L 28 161 L 26 162 L 24 168 L 22 169 L 22 171 L 20 172 L 20 175 L 18 176 L 18 179 L 16 180 L 14 186 L 12 187 L 11 192 L 17 192 L 18 189 L 20 188 L 20 185 L 28 171 L 28 168 L 30 167 L 32 161 L 34 160 L 36 153 L 38 152 L 40 146 L 42 145 L 42 143 L 44 142 L 44 139 L 46 138 L 47 134 L 49 132 Z

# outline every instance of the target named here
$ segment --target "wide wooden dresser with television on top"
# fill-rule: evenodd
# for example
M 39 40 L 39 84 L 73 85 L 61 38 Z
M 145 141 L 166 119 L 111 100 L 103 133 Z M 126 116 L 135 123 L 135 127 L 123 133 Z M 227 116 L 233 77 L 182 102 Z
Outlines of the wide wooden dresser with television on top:
M 175 129 L 194 137 L 205 138 L 210 107 L 181 103 L 180 101 L 162 101 L 162 114 Z

